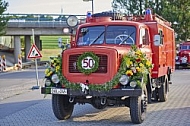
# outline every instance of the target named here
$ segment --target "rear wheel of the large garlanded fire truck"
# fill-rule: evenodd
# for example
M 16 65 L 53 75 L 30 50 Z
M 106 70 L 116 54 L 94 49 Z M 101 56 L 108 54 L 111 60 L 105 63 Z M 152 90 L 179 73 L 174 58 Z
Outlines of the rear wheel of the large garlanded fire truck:
M 158 88 L 158 99 L 160 102 L 167 101 L 168 98 L 168 77 L 165 76 L 164 82 L 162 83 L 161 87 Z

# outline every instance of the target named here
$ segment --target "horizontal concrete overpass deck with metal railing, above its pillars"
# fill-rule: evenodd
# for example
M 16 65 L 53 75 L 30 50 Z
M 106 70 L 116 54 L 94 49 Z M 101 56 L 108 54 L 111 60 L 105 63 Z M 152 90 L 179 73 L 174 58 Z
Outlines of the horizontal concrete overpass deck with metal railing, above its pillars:
M 6 35 L 31 35 L 32 29 L 35 35 L 63 35 L 63 28 L 68 28 L 66 21 L 8 22 Z

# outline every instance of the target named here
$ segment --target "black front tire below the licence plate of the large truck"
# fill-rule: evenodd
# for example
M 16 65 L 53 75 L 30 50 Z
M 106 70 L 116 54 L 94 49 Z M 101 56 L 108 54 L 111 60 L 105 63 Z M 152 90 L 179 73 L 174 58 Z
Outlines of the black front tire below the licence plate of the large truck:
M 64 95 L 52 95 L 53 113 L 59 120 L 69 119 L 73 113 L 74 104 L 69 102 L 69 97 Z

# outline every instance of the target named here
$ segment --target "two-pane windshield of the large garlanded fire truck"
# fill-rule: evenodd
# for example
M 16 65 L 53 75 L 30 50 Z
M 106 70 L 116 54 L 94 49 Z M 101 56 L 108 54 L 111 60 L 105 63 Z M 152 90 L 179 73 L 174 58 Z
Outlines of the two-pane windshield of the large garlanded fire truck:
M 78 46 L 106 44 L 131 45 L 136 41 L 134 26 L 91 26 L 79 30 Z

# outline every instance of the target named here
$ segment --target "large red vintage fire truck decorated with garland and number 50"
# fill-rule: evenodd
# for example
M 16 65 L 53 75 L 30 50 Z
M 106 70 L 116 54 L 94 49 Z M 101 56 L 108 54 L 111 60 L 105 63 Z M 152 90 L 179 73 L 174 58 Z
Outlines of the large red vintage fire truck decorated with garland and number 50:
M 42 94 L 52 94 L 59 120 L 71 117 L 75 104 L 130 108 L 142 123 L 151 101 L 167 100 L 175 70 L 175 38 L 170 23 L 147 9 L 143 16 L 87 15 L 78 24 L 67 19 L 71 42 L 46 70 Z

